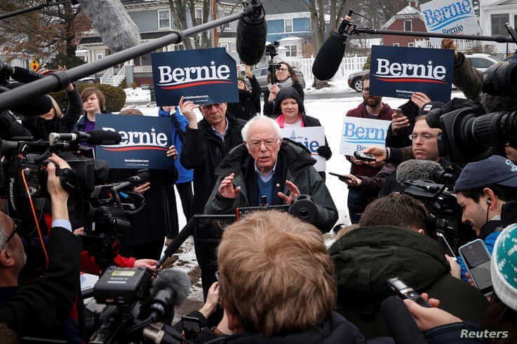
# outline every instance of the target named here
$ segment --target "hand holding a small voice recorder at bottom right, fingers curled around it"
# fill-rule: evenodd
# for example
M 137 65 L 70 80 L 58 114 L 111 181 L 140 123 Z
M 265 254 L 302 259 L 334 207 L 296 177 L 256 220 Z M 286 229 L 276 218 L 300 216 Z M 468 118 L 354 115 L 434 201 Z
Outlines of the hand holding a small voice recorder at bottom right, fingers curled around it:
M 412 317 L 415 319 L 420 331 L 427 331 L 438 326 L 462 322 L 462 319 L 459 319 L 459 317 L 455 317 L 449 312 L 445 312 L 445 310 L 437 308 L 440 301 L 436 298 L 429 298 L 427 294 L 422 294 L 422 298 L 424 298 L 424 300 L 433 307 L 425 308 L 409 299 L 405 299 L 403 301 Z

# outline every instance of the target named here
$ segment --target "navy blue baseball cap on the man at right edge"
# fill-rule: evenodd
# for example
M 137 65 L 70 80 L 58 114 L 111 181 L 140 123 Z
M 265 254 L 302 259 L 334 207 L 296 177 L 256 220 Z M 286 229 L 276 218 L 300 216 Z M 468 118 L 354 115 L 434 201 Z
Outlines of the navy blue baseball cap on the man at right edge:
M 468 163 L 459 174 L 454 190 L 465 191 L 492 184 L 517 188 L 517 165 L 502 156 Z

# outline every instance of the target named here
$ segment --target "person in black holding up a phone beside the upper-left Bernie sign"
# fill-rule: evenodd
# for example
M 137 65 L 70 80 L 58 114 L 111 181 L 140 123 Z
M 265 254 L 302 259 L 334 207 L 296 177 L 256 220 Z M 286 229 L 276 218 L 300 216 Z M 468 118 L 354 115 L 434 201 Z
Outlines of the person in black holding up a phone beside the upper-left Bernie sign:
M 239 76 L 239 78 L 237 78 L 239 102 L 229 103 L 228 111 L 236 118 L 248 121 L 260 111 L 260 84 L 251 72 L 250 66 L 246 65 L 244 71 L 246 72 L 246 78 L 248 78 L 251 83 L 251 90 L 249 90 L 248 85 L 246 85 L 246 79 Z

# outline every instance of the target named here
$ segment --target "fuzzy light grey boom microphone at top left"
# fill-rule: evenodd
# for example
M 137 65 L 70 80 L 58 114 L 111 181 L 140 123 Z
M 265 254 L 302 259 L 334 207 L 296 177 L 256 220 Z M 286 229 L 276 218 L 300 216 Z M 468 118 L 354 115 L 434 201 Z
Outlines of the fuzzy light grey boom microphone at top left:
M 118 52 L 140 44 L 140 32 L 120 0 L 79 0 L 102 42 Z

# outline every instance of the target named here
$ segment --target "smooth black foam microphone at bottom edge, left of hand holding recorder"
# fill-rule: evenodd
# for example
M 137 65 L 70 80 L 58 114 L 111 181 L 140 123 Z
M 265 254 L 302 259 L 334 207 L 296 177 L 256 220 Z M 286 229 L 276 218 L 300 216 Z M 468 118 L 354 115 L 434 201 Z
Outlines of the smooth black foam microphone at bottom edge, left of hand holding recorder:
M 427 343 L 424 335 L 418 329 L 408 308 L 397 296 L 389 296 L 381 304 L 381 312 L 389 333 L 397 344 Z

